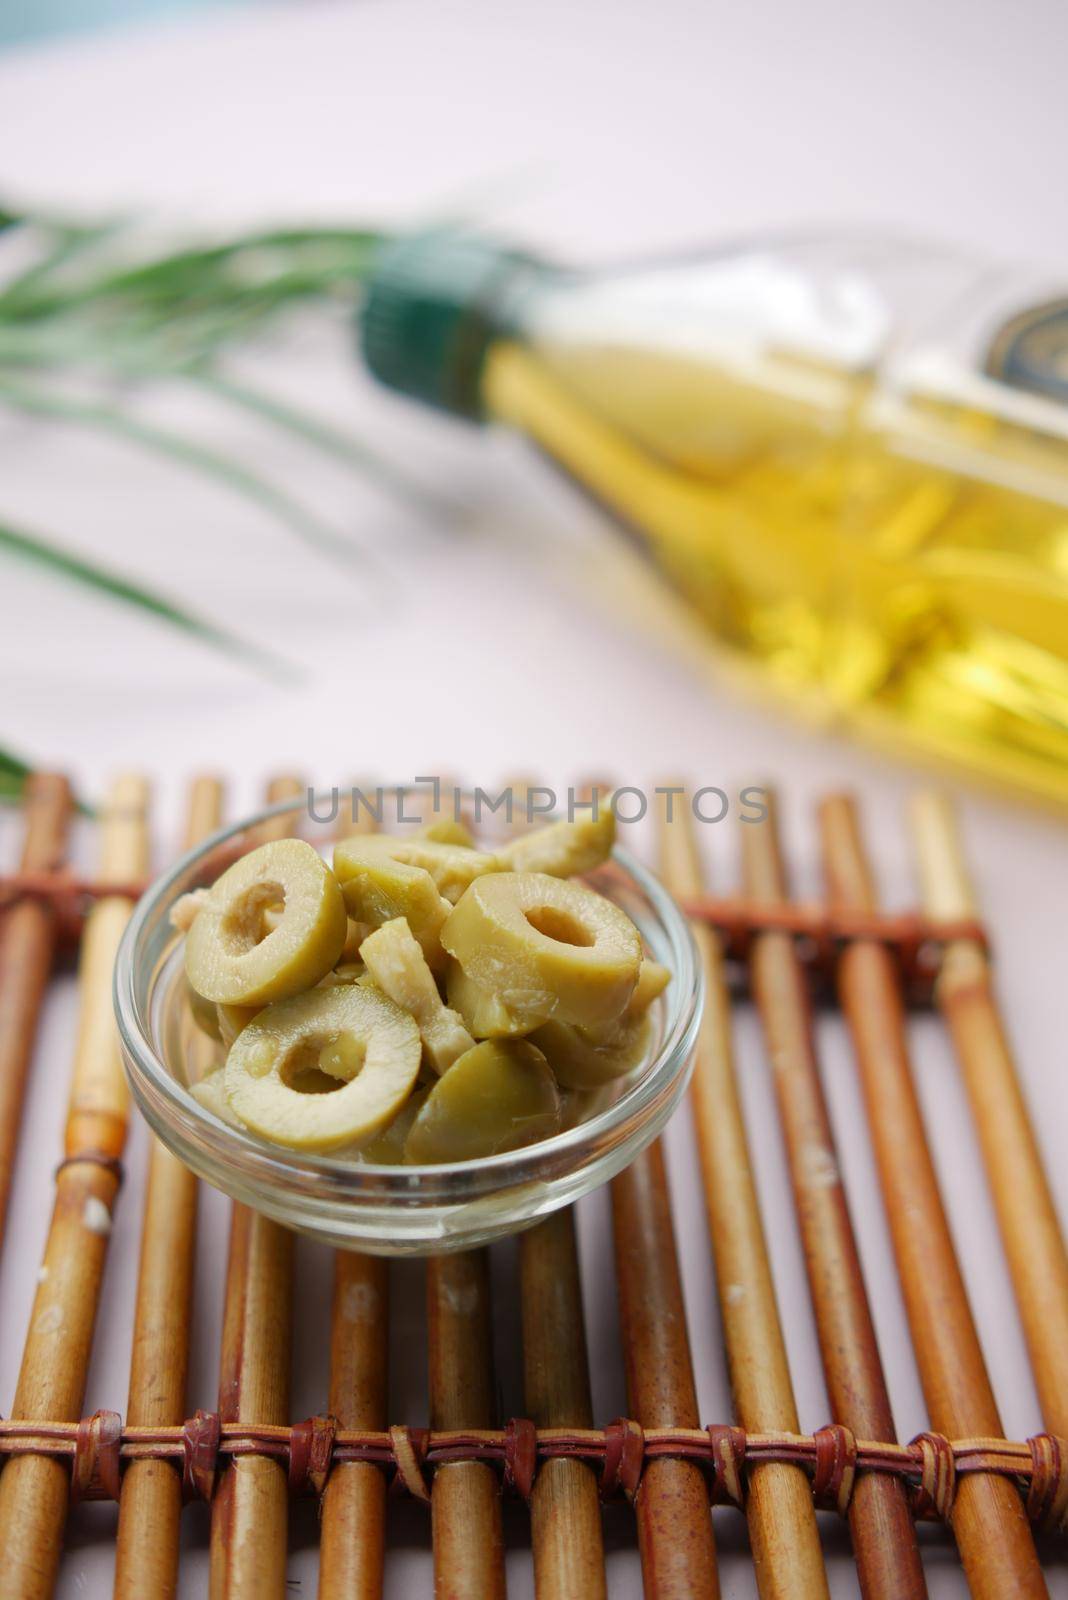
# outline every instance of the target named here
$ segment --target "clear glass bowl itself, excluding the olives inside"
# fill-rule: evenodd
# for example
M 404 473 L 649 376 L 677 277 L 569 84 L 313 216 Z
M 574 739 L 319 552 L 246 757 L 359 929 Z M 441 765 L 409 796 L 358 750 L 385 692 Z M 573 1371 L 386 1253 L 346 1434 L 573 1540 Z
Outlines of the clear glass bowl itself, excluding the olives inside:
M 397 794 L 387 790 L 389 797 Z M 337 822 L 317 822 L 329 797 L 286 800 L 213 834 L 141 898 L 115 963 L 115 1014 L 134 1098 L 152 1130 L 200 1178 L 265 1216 L 328 1245 L 384 1256 L 468 1250 L 529 1227 L 606 1182 L 638 1155 L 675 1110 L 692 1067 L 702 978 L 689 926 L 657 878 L 625 851 L 588 875 L 636 923 L 649 954 L 673 973 L 656 1002 L 649 1054 L 604 1101 L 563 1133 L 480 1162 L 376 1166 L 283 1150 L 221 1122 L 189 1093 L 213 1046 L 197 1027 L 181 936 L 169 912 L 181 894 L 213 883 L 259 843 L 275 816 L 328 853 Z M 342 792 L 342 806 L 347 795 Z M 390 830 L 404 832 L 404 826 Z M 409 830 L 409 829 L 408 829 Z M 476 829 L 492 838 L 489 829 Z

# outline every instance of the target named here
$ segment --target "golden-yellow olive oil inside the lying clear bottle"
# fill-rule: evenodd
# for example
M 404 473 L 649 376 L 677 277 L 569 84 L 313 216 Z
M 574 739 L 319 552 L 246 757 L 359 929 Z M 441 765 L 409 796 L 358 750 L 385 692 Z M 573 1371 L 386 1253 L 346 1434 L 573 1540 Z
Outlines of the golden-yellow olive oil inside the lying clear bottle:
M 801 376 L 502 342 L 483 394 L 780 690 L 1068 802 L 1068 445 Z

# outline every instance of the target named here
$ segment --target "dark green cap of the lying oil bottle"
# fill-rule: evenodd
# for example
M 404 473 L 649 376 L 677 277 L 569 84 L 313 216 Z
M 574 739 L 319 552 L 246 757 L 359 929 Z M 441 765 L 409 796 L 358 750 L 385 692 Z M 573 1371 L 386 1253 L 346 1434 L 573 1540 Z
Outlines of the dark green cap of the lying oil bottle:
M 481 418 L 486 350 L 512 331 L 516 291 L 539 270 L 531 258 L 465 234 L 390 240 L 360 312 L 368 366 L 390 389 Z

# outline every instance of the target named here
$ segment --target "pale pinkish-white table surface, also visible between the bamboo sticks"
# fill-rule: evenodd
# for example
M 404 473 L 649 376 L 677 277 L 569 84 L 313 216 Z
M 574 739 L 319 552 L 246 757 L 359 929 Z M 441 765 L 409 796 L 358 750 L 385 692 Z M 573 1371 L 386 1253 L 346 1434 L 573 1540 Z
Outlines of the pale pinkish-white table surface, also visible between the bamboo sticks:
M 0 58 L 0 194 L 8 200 L 150 208 L 235 226 L 262 218 L 425 218 L 478 205 L 531 245 L 574 259 L 691 243 L 790 221 L 889 221 L 986 251 L 1057 261 L 1063 206 L 1068 13 L 1054 3 L 894 8 L 815 0 L 568 6 L 392 0 L 235 11 L 50 43 Z M 299 339 L 264 357 L 339 424 L 361 427 L 427 482 L 473 504 L 470 531 L 416 525 L 305 450 L 173 397 L 153 411 L 209 429 L 374 547 L 366 581 L 302 552 L 262 514 L 177 469 L 70 429 L 0 416 L 0 506 L 131 578 L 259 632 L 301 661 L 291 691 L 221 666 L 122 611 L 5 563 L 3 742 L 67 766 L 86 792 L 141 766 L 158 779 L 158 861 L 174 848 L 182 781 L 232 774 L 248 808 L 267 773 L 318 782 L 443 768 L 470 782 L 510 771 L 566 784 L 593 771 L 649 784 L 681 773 L 737 789 L 774 778 L 799 886 L 815 886 L 814 797 L 863 798 L 887 902 L 913 896 L 902 803 L 916 774 L 739 701 L 702 664 L 673 602 L 649 603 L 632 558 L 598 515 L 510 440 L 488 440 L 374 394 L 341 341 Z M 209 581 L 208 576 L 209 574 Z M 598 598 L 603 587 L 606 600 Z M 441 616 L 478 626 L 443 637 Z M 1020 1070 L 1062 1206 L 1065 832 L 1018 806 L 962 797 L 983 909 L 1002 930 L 1001 986 Z M 11 819 L 2 824 L 11 859 Z M 729 827 L 710 829 L 716 885 L 732 880 Z M 85 840 L 80 842 L 85 848 Z M 10 1406 L 50 1213 L 74 1021 L 72 981 L 48 1006 L 0 1269 L 0 1410 Z M 924 1426 L 900 1296 L 849 1053 L 820 1022 L 899 1434 Z M 1039 1429 L 1033 1384 L 967 1109 L 945 1042 L 916 1024 L 919 1090 L 938 1131 L 937 1165 L 1002 1419 Z M 828 1414 L 796 1229 L 780 1171 L 769 1083 L 751 1016 L 739 1018 L 740 1074 L 801 1422 Z M 703 1214 L 686 1115 L 668 1134 L 700 1410 L 729 1411 Z M 86 1411 L 122 1410 L 139 1238 L 145 1134 L 130 1141 Z M 190 1402 L 211 1406 L 221 1322 L 225 1202 L 201 1211 Z M 625 1410 L 604 1195 L 580 1206 L 598 1418 Z M 301 1242 L 293 1416 L 321 1410 L 329 1262 Z M 521 1411 L 512 1253 L 496 1251 L 505 1414 Z M 417 1269 L 395 1274 L 392 1414 L 424 1406 Z M 110 1506 L 72 1517 L 62 1595 L 109 1592 Z M 743 1525 L 716 1514 L 724 1592 L 755 1592 Z M 508 1581 L 531 1592 L 524 1518 L 508 1514 Z M 640 1592 L 627 1514 L 608 1520 L 612 1594 Z M 206 1517 L 185 1517 L 182 1594 L 205 1589 Z M 945 1534 L 924 1533 L 932 1594 L 964 1594 Z M 836 1595 L 855 1594 L 844 1531 L 828 1523 Z M 293 1520 L 291 1590 L 315 1587 L 310 1507 Z M 428 1530 L 398 1507 L 390 1595 L 428 1592 Z M 1063 1563 L 1050 1587 L 1068 1595 Z

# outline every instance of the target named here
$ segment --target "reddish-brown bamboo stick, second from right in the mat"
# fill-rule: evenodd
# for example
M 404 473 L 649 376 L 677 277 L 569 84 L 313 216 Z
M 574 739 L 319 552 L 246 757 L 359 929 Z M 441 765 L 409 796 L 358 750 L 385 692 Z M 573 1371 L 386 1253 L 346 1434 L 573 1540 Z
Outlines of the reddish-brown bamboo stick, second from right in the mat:
M 831 901 L 844 910 L 876 910 L 854 802 L 827 800 L 820 827 Z M 838 982 L 931 1426 L 950 1438 L 1001 1437 L 916 1101 L 894 958 L 859 939 L 843 952 Z M 1046 1595 L 1023 1502 L 1007 1478 L 961 1475 L 951 1522 L 975 1600 Z

